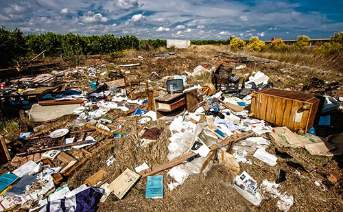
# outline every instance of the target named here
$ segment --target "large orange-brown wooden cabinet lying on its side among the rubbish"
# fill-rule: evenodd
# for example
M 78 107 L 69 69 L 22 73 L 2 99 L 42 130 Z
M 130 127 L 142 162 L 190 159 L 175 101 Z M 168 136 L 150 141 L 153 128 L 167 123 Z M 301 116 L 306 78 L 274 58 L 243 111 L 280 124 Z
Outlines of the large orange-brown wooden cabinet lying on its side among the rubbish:
M 250 115 L 303 134 L 314 126 L 320 102 L 314 95 L 263 89 L 252 93 Z

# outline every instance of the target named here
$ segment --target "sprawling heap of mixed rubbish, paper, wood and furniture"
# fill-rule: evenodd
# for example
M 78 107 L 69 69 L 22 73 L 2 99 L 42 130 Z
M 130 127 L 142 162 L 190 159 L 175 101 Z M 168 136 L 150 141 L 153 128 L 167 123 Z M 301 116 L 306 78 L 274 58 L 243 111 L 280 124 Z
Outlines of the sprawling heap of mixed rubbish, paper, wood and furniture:
M 230 70 L 244 68 L 231 67 Z M 54 79 L 71 76 L 97 78 L 106 75 L 101 70 L 101 67 L 77 67 L 53 71 L 52 75 L 40 75 L 39 78 L 43 80 L 37 82 L 45 86 L 45 83 L 51 83 Z M 330 125 L 330 115 L 327 114 L 342 108 L 342 99 L 326 96 L 323 106 L 318 106 L 320 99 L 314 103 L 310 102 L 313 100 L 311 98 L 300 101 L 300 97 L 296 98 L 297 93 L 291 93 L 293 99 L 282 99 L 288 94 L 272 89 L 273 84 L 268 82 L 269 77 L 263 72 L 253 73 L 245 80 L 230 70 L 224 66 L 212 69 L 198 66 L 192 73 L 186 73 L 187 76 L 159 78 L 157 75 L 156 79 L 146 82 L 134 73 L 138 80 L 130 81 L 131 73 L 125 75 L 124 80 L 117 79 L 102 85 L 96 80 L 89 80 L 92 89 L 54 87 L 40 92 L 38 103 L 21 95 L 21 92 L 29 89 L 29 84 L 25 84 L 28 80 L 16 80 L 13 83 L 25 84 L 26 87 L 21 87 L 25 90 L 16 90 L 18 88 L 14 86 L 16 91 L 6 90 L 3 96 L 8 95 L 8 101 L 17 103 L 29 101 L 29 119 L 37 124 L 32 131 L 26 128 L 27 131 L 21 132 L 22 146 L 18 152 L 4 148 L 16 169 L 0 176 L 0 211 L 17 206 L 29 211 L 58 211 L 60 207 L 66 211 L 94 211 L 97 204 L 106 201 L 110 193 L 123 199 L 139 180 L 145 178 L 145 197 L 163 198 L 163 175 L 156 174 L 168 169 L 167 175 L 174 181 L 168 182 L 167 186 L 169 190 L 174 190 L 182 186 L 189 176 L 209 172 L 214 163 L 223 165 L 228 172 L 235 174 L 233 188 L 252 204 L 258 206 L 265 193 L 270 193 L 277 198 L 276 206 L 281 211 L 289 211 L 294 197 L 279 191 L 279 185 L 287 180 L 287 172 L 309 175 L 306 164 L 296 163 L 292 159 L 291 149 L 305 148 L 310 154 L 320 156 L 343 154 L 342 134 L 322 138 L 316 135 L 314 128 Z M 204 71 L 213 75 L 213 84 L 187 84 L 187 78 Z M 143 91 L 143 94 L 132 98 L 138 91 Z M 13 100 L 11 95 L 19 95 L 19 99 Z M 309 112 L 307 107 L 310 106 L 305 105 L 310 104 L 312 109 Z M 291 111 L 295 105 L 298 105 L 295 112 L 285 112 Z M 262 110 L 265 113 L 260 114 Z M 278 116 L 279 110 L 281 117 Z M 271 119 L 270 114 L 274 115 Z M 52 128 L 47 125 L 62 120 L 64 116 L 71 116 L 71 119 L 60 121 Z M 145 123 L 154 125 L 157 120 L 169 125 L 169 162 L 155 167 L 148 163 L 137 164 L 134 171 L 126 169 L 114 180 L 108 178 L 111 173 L 99 170 L 80 187 L 70 189 L 65 182 L 75 169 L 82 167 L 113 140 L 132 133 L 123 131 L 128 117 L 134 117 L 137 126 Z M 305 117 L 307 121 L 304 121 Z M 314 121 L 315 117 L 318 117 L 318 122 Z M 291 122 L 293 128 L 290 129 L 287 126 Z M 137 148 L 149 148 L 149 144 L 154 143 L 164 130 L 167 129 L 157 126 L 144 128 L 135 135 L 138 139 Z M 298 134 L 301 130 L 304 132 Z M 270 151 L 271 143 L 287 151 L 277 148 Z M 239 165 L 253 165 L 248 155 L 270 167 L 283 163 L 279 162 L 279 158 L 286 159 L 289 170 L 279 169 L 275 182 L 263 180 L 258 185 L 253 174 L 242 170 Z M 59 165 L 51 161 L 59 161 Z M 115 156 L 109 156 L 106 165 L 115 161 Z

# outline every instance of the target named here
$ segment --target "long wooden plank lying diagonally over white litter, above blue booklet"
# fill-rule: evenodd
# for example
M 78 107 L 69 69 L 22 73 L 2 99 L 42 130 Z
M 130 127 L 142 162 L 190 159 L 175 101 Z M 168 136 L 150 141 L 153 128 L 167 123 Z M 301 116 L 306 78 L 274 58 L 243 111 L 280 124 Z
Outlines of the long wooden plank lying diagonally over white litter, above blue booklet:
M 237 141 L 241 141 L 241 140 L 246 139 L 248 137 L 252 137 L 254 134 L 255 134 L 255 132 L 253 132 L 252 130 L 249 130 L 249 131 L 243 132 L 239 135 L 233 135 L 232 137 L 225 139 L 224 141 L 221 141 L 220 143 L 217 143 L 217 145 L 228 145 L 229 143 L 235 143 Z M 219 147 L 217 145 L 211 146 L 211 152 L 219 149 Z M 163 165 L 158 165 L 156 167 L 153 167 L 152 169 L 145 169 L 142 172 L 140 172 L 139 174 L 142 174 L 143 177 L 152 176 L 154 174 L 162 172 L 165 169 L 169 169 L 171 167 L 179 165 L 179 164 L 183 163 L 184 161 L 186 161 L 188 158 L 191 158 L 193 156 L 196 156 L 196 153 L 191 152 L 190 154 L 175 158 L 175 159 L 173 159 L 173 160 L 171 160 L 171 161 L 169 161 Z

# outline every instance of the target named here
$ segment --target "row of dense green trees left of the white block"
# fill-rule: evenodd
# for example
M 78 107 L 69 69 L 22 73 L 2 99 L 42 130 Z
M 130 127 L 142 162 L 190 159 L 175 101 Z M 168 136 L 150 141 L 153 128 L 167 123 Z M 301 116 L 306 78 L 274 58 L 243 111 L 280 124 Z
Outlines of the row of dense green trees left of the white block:
M 39 54 L 46 50 L 47 56 L 74 56 L 88 54 L 112 54 L 124 49 L 151 49 L 165 46 L 166 40 L 139 40 L 136 36 L 116 37 L 113 34 L 84 36 L 80 34 L 27 34 L 18 29 L 13 31 L 0 28 L 0 68 L 14 65 L 29 54 Z

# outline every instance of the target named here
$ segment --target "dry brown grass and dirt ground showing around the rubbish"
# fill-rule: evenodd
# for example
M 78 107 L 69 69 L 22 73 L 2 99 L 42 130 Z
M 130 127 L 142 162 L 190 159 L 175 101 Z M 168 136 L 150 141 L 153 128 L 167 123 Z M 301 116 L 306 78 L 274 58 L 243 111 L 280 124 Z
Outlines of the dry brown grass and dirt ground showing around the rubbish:
M 84 60 L 84 64 L 98 62 L 106 64 L 104 67 L 106 71 L 119 71 L 117 64 L 140 62 L 141 66 L 126 68 L 125 71 L 136 70 L 144 78 L 149 78 L 152 71 L 156 71 L 161 77 L 175 74 L 182 75 L 185 74 L 185 71 L 193 71 L 199 64 L 206 65 L 209 69 L 213 66 L 217 67 L 221 62 L 227 62 L 235 66 L 246 64 L 246 69 L 237 70 L 233 73 L 247 78 L 253 71 L 262 71 L 270 77 L 270 82 L 274 83 L 276 88 L 302 92 L 305 92 L 303 86 L 309 84 L 309 78 L 319 78 L 331 82 L 342 79 L 343 75 L 341 73 L 325 73 L 325 70 L 296 69 L 287 64 L 255 62 L 229 56 L 224 53 L 225 51 L 227 49 L 224 46 L 192 46 L 186 50 L 178 50 L 179 54 L 176 56 L 166 58 L 154 57 L 155 52 L 126 51 L 121 58 L 109 56 L 88 57 Z M 143 56 L 143 59 L 139 59 L 137 56 Z M 108 75 L 100 78 L 99 81 L 106 82 L 115 79 L 115 77 Z M 203 84 L 210 81 L 209 75 L 189 79 L 189 83 L 194 84 Z M 311 91 L 306 92 L 311 93 Z M 117 113 L 114 111 L 109 114 L 109 116 L 113 117 L 115 115 Z M 328 134 L 343 132 L 342 123 L 339 123 L 339 120 L 343 120 L 342 111 L 335 111 L 333 120 L 335 120 L 333 121 L 333 128 L 323 130 L 323 137 Z M 51 123 L 51 126 L 55 124 L 58 123 Z M 163 128 L 161 136 L 146 148 L 137 148 L 136 144 L 139 141 L 137 134 L 143 128 L 152 127 Z M 126 132 L 128 136 L 111 140 L 110 144 L 102 152 L 84 163 L 64 183 L 68 183 L 71 189 L 79 187 L 86 178 L 100 169 L 108 172 L 109 182 L 111 182 L 126 168 L 134 170 L 134 167 L 144 162 L 150 167 L 154 167 L 168 161 L 167 145 L 171 134 L 167 123 L 150 121 L 139 125 L 137 124 L 137 117 L 129 117 L 119 132 Z M 272 142 L 267 152 L 275 154 L 276 143 L 270 137 L 265 136 L 265 138 Z M 294 204 L 289 211 L 343 211 L 342 156 L 335 158 L 311 156 L 307 150 L 303 149 L 280 148 L 279 146 L 277 148 L 294 156 L 293 161 L 304 165 L 310 172 L 309 176 L 304 177 L 296 174 L 294 169 L 286 165 L 287 160 L 285 159 L 279 158 L 278 164 L 270 167 L 253 157 L 251 153 L 248 154 L 247 158 L 253 164 L 239 163 L 241 172 L 248 172 L 261 185 L 262 180 L 274 182 L 279 169 L 285 170 L 287 180 L 281 182 L 278 190 L 294 197 Z M 105 162 L 112 155 L 115 156 L 117 161 L 107 166 Z M 53 162 L 57 163 L 56 161 Z M 187 178 L 184 184 L 176 187 L 173 191 L 169 191 L 167 184 L 174 182 L 174 180 L 167 175 L 167 170 L 161 172 L 164 186 L 164 197 L 161 199 L 145 198 L 146 179 L 142 178 L 126 198 L 118 200 L 111 194 L 106 202 L 99 204 L 98 211 L 279 211 L 278 207 L 276 207 L 278 198 L 272 198 L 270 194 L 263 193 L 260 189 L 259 192 L 263 196 L 263 200 L 259 207 L 255 207 L 233 189 L 233 178 L 235 176 L 232 173 L 213 161 L 211 161 L 210 167 L 206 174 L 193 175 Z M 11 169 L 12 167 L 7 164 L 3 165 L 0 171 L 3 173 Z M 336 180 L 332 180 L 330 176 L 334 176 Z M 322 187 L 314 184 L 316 180 L 322 181 Z

